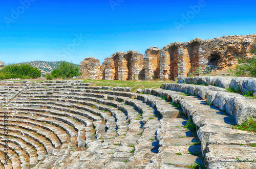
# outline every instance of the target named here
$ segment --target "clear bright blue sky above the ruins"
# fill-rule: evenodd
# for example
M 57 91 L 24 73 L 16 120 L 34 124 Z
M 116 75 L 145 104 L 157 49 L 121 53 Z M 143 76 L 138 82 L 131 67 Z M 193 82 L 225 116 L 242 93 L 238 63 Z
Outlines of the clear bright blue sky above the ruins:
M 103 62 L 116 51 L 144 54 L 148 47 L 196 37 L 256 34 L 255 0 L 27 1 L 0 2 L 0 61 L 6 64 Z

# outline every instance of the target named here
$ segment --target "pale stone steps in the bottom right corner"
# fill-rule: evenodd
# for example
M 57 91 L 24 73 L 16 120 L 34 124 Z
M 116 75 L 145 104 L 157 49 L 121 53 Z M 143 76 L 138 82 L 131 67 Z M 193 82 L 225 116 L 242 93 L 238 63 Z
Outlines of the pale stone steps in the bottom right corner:
M 256 157 L 253 144 L 256 144 L 256 136 L 253 133 L 211 135 L 205 155 L 207 167 L 253 168 L 256 166 L 253 162 Z

